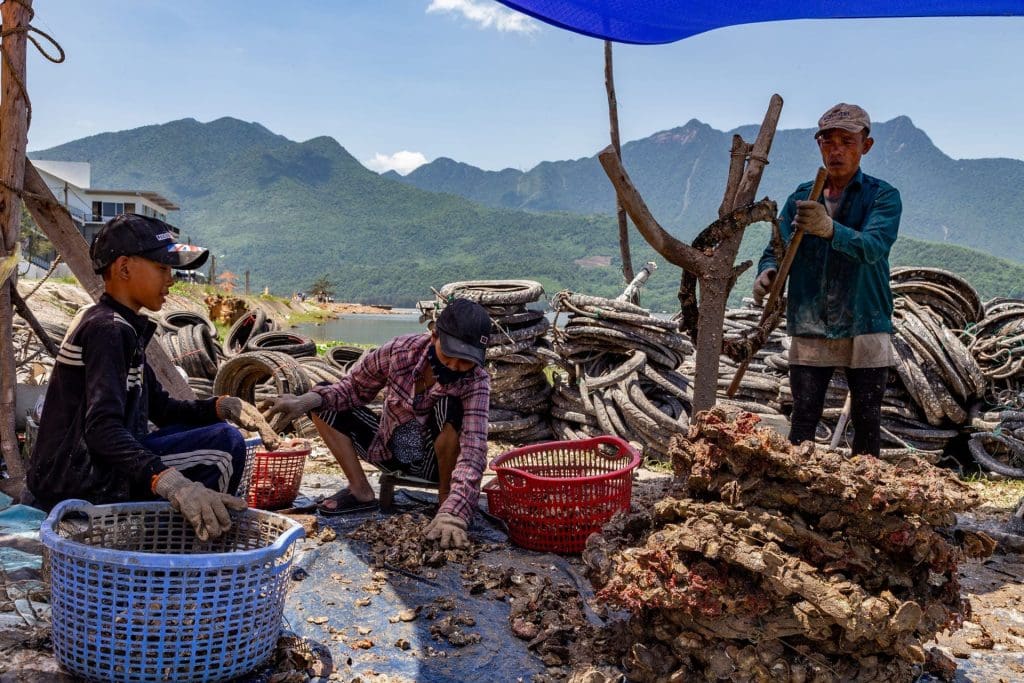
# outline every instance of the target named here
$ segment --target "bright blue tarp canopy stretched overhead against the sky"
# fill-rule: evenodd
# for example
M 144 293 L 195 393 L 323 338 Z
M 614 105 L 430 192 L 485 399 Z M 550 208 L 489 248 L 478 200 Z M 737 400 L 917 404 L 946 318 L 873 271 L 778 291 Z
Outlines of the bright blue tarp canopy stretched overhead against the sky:
M 738 24 L 895 16 L 1019 16 L 1024 0 L 498 0 L 542 22 L 621 43 L 671 43 Z

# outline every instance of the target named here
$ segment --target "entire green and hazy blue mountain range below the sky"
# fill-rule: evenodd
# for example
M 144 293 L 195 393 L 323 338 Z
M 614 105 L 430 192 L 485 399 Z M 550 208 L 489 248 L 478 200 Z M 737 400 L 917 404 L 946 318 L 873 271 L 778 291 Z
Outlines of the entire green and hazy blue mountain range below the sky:
M 755 131 L 739 132 L 753 139 Z M 983 296 L 1021 294 L 1021 266 L 911 236 L 1024 258 L 1015 238 L 1022 200 L 1012 193 L 1024 163 L 950 160 L 906 118 L 880 124 L 874 134 L 865 170 L 899 186 L 907 207 L 894 265 L 941 265 L 968 274 Z M 667 228 L 691 238 L 714 218 L 729 141 L 730 133 L 691 121 L 624 146 L 627 168 Z M 595 158 L 527 172 L 441 159 L 404 178 L 382 176 L 333 138 L 296 142 L 231 118 L 102 133 L 30 157 L 87 161 L 94 186 L 167 196 L 182 206 L 174 218 L 182 233 L 213 250 L 218 270 L 251 270 L 255 287 L 275 294 L 324 274 L 339 299 L 393 305 L 459 280 L 532 279 L 549 294 L 569 288 L 607 296 L 623 287 L 608 215 L 613 196 Z M 759 194 L 781 203 L 818 163 L 809 131 L 779 131 Z M 756 258 L 767 232 L 749 232 L 742 252 Z M 663 268 L 645 303 L 675 308 L 678 270 L 635 231 L 633 251 L 635 265 L 654 259 Z M 750 278 L 737 293 L 750 291 Z

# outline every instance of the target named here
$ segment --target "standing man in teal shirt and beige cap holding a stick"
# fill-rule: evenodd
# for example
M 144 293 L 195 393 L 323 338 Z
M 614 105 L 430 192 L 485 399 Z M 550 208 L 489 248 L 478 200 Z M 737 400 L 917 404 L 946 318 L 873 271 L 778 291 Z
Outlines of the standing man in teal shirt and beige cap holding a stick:
M 790 441 L 813 440 L 836 368 L 850 386 L 853 453 L 878 456 L 882 397 L 894 364 L 889 250 L 903 211 L 899 191 L 860 170 L 874 140 L 867 112 L 841 102 L 818 120 L 814 134 L 828 171 L 821 201 L 807 201 L 811 182 L 790 196 L 779 216 L 788 244 L 804 230 L 790 271 L 786 331 L 793 418 Z M 758 264 L 760 302 L 778 269 L 771 245 Z

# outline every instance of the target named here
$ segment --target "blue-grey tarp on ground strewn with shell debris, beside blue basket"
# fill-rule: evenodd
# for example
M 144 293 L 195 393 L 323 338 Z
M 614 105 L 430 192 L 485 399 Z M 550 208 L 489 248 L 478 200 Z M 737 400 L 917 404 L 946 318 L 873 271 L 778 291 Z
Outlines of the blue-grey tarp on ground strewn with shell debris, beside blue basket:
M 435 503 L 433 497 L 399 490 L 391 514 L 420 512 L 429 515 Z M 485 505 L 483 507 L 485 509 Z M 418 575 L 400 568 L 374 567 L 368 544 L 348 539 L 347 535 L 365 521 L 384 516 L 384 513 L 370 512 L 319 518 L 321 527 L 331 526 L 338 538 L 321 545 L 315 541 L 307 542 L 303 552 L 296 557 L 292 572 L 300 581 L 296 581 L 289 592 L 285 607 L 286 629 L 326 648 L 333 671 L 342 681 L 371 673 L 424 683 L 529 681 L 534 674 L 545 670 L 544 664 L 527 650 L 526 642 L 512 635 L 506 602 L 486 592 L 469 595 L 460 575 L 463 565 L 449 563 L 430 568 L 431 572 L 436 572 L 434 579 L 422 575 L 426 571 Z M 476 515 L 470 535 L 476 542 L 503 544 L 500 550 L 481 554 L 479 562 L 516 567 L 523 572 L 549 577 L 553 583 L 572 584 L 585 599 L 593 594 L 587 580 L 565 558 L 532 553 L 506 543 L 505 533 L 484 516 Z M 388 578 L 380 594 L 365 591 L 362 587 L 371 585 L 375 572 L 381 570 L 386 570 Z M 339 574 L 351 583 L 341 583 Z M 455 598 L 456 607 L 439 612 L 438 618 L 447 614 L 471 615 L 475 626 L 465 627 L 464 632 L 478 634 L 480 642 L 455 647 L 438 641 L 429 630 L 436 622 L 422 614 L 409 623 L 388 621 L 407 608 L 423 606 L 426 609 L 441 597 Z M 371 603 L 356 606 L 355 601 L 359 598 L 370 598 Z M 593 614 L 590 616 L 597 618 Z M 327 622 L 314 624 L 308 621 L 310 617 L 327 617 Z M 359 627 L 371 631 L 360 636 Z M 339 631 L 344 632 L 344 640 L 333 639 L 341 635 Z M 359 649 L 350 644 L 364 638 L 372 641 L 373 647 Z M 399 639 L 409 642 L 408 650 L 395 646 Z M 255 682 L 260 678 L 265 680 L 260 676 L 246 680 Z

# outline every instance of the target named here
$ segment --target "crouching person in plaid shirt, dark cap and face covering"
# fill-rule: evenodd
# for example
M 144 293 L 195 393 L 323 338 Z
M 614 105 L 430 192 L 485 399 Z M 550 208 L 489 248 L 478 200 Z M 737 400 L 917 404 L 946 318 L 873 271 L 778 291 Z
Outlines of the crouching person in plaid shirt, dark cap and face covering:
M 437 514 L 427 538 L 442 548 L 469 545 L 466 528 L 480 495 L 487 459 L 490 383 L 483 369 L 490 317 L 456 299 L 427 334 L 396 337 L 367 354 L 336 384 L 284 395 L 261 408 L 270 420 L 311 413 L 313 424 L 348 478 L 321 514 L 376 507 L 359 459 L 387 471 L 438 482 Z M 384 390 L 380 418 L 366 408 Z

